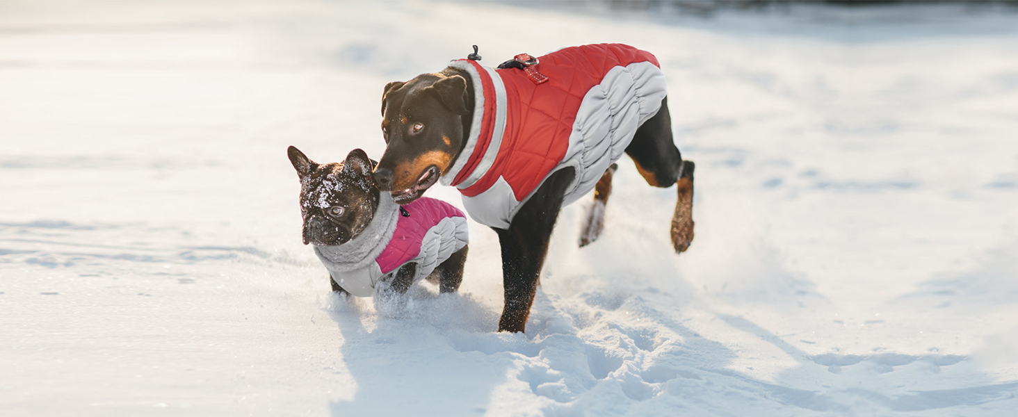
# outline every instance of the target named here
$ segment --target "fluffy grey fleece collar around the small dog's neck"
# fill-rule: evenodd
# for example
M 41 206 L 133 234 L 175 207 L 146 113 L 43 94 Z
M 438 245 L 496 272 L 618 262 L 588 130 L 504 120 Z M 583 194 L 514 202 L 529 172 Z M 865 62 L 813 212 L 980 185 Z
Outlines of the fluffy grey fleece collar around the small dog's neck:
M 329 271 L 346 273 L 367 266 L 375 261 L 396 232 L 399 210 L 392 194 L 379 193 L 379 208 L 375 218 L 357 237 L 334 246 L 315 246 L 315 254 Z

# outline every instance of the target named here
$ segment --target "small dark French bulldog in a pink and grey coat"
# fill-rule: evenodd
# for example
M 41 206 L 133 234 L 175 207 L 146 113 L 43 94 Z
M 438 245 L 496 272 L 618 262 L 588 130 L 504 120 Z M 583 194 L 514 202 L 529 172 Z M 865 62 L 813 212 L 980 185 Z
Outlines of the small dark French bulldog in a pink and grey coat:
M 315 246 L 334 292 L 405 294 L 422 279 L 440 293 L 459 289 L 469 240 L 462 212 L 434 198 L 396 204 L 375 186 L 375 163 L 361 150 L 328 164 L 294 146 L 287 155 L 300 178 L 303 243 Z

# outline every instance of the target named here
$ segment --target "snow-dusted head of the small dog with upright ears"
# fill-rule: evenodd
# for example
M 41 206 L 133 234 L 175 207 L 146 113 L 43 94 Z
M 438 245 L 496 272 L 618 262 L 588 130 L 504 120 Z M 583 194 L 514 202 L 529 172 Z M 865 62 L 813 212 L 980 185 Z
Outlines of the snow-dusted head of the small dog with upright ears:
M 306 157 L 303 158 L 306 163 L 302 163 L 303 154 L 296 156 L 293 165 L 300 176 L 300 215 L 305 245 L 332 246 L 349 242 L 374 219 L 379 190 L 372 181 L 371 160 L 366 155 L 360 160 L 354 153 L 363 155 L 362 151 L 355 150 L 342 163 L 324 165 L 315 164 Z M 292 151 L 290 159 L 294 160 Z

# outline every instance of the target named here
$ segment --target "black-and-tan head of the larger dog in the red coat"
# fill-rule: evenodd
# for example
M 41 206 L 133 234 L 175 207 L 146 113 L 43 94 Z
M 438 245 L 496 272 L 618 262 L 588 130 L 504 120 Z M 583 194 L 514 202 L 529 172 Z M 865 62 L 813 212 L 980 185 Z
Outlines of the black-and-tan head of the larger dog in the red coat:
M 382 99 L 386 151 L 374 178 L 397 203 L 417 199 L 449 171 L 463 145 L 465 93 L 463 77 L 440 74 L 386 85 Z

